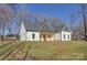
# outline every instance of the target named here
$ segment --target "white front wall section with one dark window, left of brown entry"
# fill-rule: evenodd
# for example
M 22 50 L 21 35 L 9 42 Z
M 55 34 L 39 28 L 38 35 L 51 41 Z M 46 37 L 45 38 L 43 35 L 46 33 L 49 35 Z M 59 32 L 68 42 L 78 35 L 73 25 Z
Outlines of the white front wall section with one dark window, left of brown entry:
M 32 39 L 32 34 L 34 34 L 34 39 Z M 26 32 L 26 41 L 40 41 L 40 32 Z

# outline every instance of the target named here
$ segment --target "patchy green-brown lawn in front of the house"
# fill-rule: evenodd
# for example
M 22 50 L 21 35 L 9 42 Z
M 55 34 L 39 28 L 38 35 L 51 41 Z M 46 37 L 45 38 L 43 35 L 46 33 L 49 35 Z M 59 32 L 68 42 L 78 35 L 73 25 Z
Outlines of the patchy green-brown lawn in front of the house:
M 19 45 L 19 46 L 18 46 Z M 87 61 L 87 42 L 14 42 L 0 44 L 0 59 Z

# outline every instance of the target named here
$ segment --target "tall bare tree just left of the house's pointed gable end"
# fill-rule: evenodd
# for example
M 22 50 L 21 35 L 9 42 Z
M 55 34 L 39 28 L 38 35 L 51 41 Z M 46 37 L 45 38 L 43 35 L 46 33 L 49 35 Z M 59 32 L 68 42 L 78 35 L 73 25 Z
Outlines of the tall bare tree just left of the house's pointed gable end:
M 13 34 L 18 39 L 19 32 L 20 32 L 21 22 L 25 22 L 28 11 L 25 10 L 24 4 L 11 3 L 11 4 L 8 4 L 8 6 L 14 11 L 14 13 L 13 13 L 13 15 L 14 15 L 14 18 L 13 18 L 14 19 L 14 22 L 13 22 L 14 28 L 12 30 L 13 30 Z M 18 6 L 21 7 L 20 10 L 18 9 Z

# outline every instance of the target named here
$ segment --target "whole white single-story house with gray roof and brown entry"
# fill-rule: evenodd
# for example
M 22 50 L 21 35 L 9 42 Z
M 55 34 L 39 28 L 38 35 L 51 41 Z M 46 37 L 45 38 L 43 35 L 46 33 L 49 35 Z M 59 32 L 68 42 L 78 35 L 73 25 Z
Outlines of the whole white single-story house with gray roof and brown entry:
M 69 26 L 53 28 L 46 22 L 32 23 L 22 22 L 20 30 L 21 41 L 70 41 L 72 31 Z

